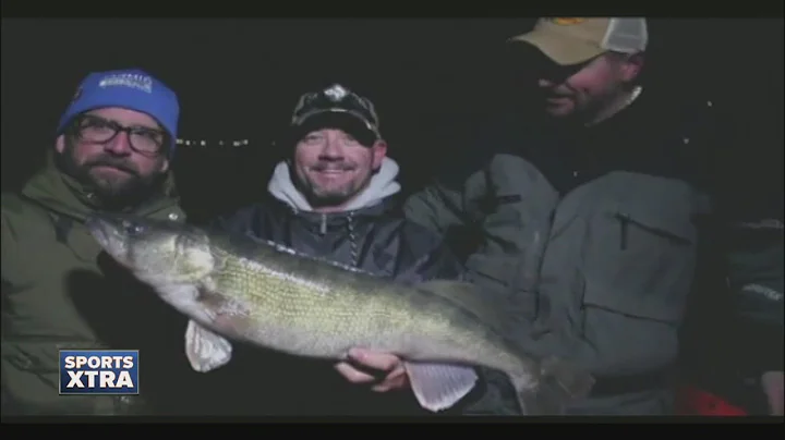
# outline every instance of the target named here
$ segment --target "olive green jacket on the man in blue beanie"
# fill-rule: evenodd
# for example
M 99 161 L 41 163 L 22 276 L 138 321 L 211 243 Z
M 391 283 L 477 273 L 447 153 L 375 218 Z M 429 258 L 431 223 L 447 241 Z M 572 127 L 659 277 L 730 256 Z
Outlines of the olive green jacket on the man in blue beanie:
M 157 389 L 147 377 L 156 362 L 169 363 L 153 359 L 165 351 L 150 341 L 160 345 L 173 332 L 178 343 L 169 351 L 184 358 L 177 349 L 184 320 L 150 301 L 154 295 L 136 292 L 141 285 L 104 259 L 106 254 L 99 258 L 84 221 L 100 208 L 56 169 L 52 158 L 21 194 L 2 195 L 3 414 L 148 412 L 147 398 Z M 184 220 L 171 178 L 165 187 L 134 212 Z M 164 330 L 164 325 L 172 328 Z M 99 347 L 141 350 L 140 398 L 58 395 L 58 351 Z

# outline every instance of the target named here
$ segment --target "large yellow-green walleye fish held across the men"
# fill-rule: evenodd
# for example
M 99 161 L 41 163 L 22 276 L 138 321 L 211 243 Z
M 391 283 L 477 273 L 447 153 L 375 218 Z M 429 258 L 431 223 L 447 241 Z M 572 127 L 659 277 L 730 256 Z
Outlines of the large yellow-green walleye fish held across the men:
M 593 379 L 559 359 L 535 359 L 497 328 L 472 284 L 397 283 L 247 236 L 169 221 L 94 216 L 102 248 L 190 318 L 185 355 L 197 371 L 226 365 L 230 341 L 299 356 L 345 359 L 352 347 L 403 359 L 420 405 L 466 396 L 476 367 L 505 372 L 520 412 L 559 414 Z

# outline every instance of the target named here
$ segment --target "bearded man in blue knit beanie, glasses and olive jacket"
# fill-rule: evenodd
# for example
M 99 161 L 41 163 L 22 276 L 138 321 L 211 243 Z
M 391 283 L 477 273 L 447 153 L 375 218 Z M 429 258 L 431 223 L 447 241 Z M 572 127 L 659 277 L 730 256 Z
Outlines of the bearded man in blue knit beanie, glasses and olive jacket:
M 179 352 L 184 320 L 143 304 L 154 296 L 105 264 L 84 224 L 96 211 L 184 220 L 170 172 L 179 115 L 174 91 L 144 71 L 90 73 L 60 119 L 47 164 L 20 193 L 2 195 L 3 414 L 179 408 L 165 398 L 188 376 L 179 363 L 189 368 L 165 353 Z M 140 350 L 144 391 L 60 396 L 62 349 Z

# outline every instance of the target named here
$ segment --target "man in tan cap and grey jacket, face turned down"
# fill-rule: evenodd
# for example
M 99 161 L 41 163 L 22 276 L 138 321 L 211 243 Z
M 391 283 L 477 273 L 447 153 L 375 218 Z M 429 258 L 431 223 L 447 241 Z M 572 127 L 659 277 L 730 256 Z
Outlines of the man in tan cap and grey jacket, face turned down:
M 726 197 L 706 191 L 704 178 L 716 173 L 704 154 L 726 142 L 713 124 L 717 106 L 648 95 L 639 82 L 648 40 L 638 17 L 542 19 L 510 38 L 536 74 L 542 100 L 528 103 L 544 118 L 500 115 L 461 151 L 463 171 L 444 170 L 406 204 L 411 220 L 440 233 L 474 228 L 481 243 L 466 261 L 469 278 L 505 304 L 510 335 L 594 375 L 591 395 L 567 414 L 672 412 L 679 329 L 706 266 L 704 242 L 720 246 L 711 255 L 725 257 L 737 307 L 757 308 L 749 319 L 782 335 L 782 215 L 727 209 Z M 717 240 L 750 233 L 758 247 Z M 782 356 L 778 365 L 770 357 L 761 369 L 782 371 Z M 486 379 L 467 413 L 526 414 L 504 379 Z

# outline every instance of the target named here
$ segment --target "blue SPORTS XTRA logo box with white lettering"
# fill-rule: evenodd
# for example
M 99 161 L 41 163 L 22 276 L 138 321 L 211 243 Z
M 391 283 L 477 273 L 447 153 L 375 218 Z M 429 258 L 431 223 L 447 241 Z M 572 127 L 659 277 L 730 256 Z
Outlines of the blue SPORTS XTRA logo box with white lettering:
M 138 394 L 138 350 L 61 350 L 60 394 Z

